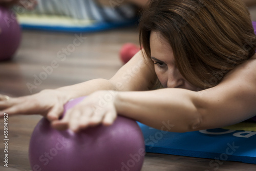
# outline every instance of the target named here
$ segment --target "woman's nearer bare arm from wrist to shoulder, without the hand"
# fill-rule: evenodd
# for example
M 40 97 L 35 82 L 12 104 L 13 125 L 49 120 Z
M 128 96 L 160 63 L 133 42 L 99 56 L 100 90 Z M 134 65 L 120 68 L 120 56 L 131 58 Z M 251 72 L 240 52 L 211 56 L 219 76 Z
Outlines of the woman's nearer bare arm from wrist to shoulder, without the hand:
M 214 129 L 249 119 L 256 114 L 256 59 L 226 75 L 216 87 L 200 92 L 162 89 L 148 92 L 120 92 L 116 108 L 131 117 L 160 129 L 174 125 L 172 132 Z

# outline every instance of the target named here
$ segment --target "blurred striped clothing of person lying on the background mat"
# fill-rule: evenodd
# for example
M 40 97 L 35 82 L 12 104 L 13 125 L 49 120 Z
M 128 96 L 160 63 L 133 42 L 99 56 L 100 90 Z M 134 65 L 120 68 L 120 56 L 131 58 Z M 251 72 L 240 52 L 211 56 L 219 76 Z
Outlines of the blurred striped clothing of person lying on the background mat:
M 7 1 L 7 0 L 0 0 Z M 9 0 L 32 1 L 32 0 Z M 135 5 L 117 0 L 37 0 L 33 11 L 26 10 L 28 15 L 64 16 L 70 19 L 88 20 L 97 23 L 123 22 L 136 18 Z

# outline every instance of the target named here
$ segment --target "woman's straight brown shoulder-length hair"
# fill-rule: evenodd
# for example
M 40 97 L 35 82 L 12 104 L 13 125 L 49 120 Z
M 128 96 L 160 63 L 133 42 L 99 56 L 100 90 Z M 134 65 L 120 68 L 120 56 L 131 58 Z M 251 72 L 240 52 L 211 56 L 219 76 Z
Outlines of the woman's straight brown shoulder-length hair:
M 146 57 L 151 32 L 159 32 L 182 76 L 201 89 L 216 86 L 255 53 L 256 36 L 241 0 L 152 0 L 139 29 Z

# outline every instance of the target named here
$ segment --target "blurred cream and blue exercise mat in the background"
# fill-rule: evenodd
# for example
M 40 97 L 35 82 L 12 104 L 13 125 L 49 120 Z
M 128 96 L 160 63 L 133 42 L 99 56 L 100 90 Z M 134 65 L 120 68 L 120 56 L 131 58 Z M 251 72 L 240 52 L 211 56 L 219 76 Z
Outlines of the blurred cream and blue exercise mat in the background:
M 138 18 L 116 22 L 97 22 L 88 19 L 74 19 L 54 15 L 17 15 L 23 29 L 58 31 L 58 32 L 98 32 L 103 30 L 132 26 L 138 23 Z

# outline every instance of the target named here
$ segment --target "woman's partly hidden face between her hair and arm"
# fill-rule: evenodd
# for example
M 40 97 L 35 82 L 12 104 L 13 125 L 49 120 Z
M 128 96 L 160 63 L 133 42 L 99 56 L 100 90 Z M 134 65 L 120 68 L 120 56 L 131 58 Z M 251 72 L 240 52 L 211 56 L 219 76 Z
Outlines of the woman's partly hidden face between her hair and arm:
M 175 64 L 172 47 L 158 32 L 151 32 L 150 36 L 151 59 L 154 62 L 155 72 L 164 88 L 180 88 L 197 91 L 180 74 Z

